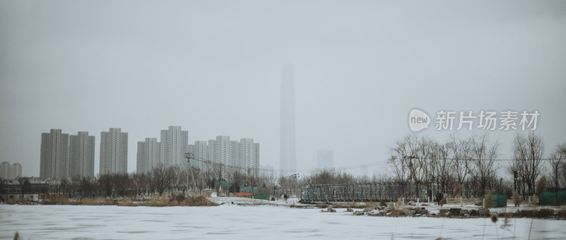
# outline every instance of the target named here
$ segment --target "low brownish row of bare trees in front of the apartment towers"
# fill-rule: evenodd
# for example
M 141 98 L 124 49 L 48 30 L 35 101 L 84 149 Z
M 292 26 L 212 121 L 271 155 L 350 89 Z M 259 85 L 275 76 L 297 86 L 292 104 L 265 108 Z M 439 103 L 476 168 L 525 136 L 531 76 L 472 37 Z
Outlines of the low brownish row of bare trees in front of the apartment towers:
M 178 192 L 185 195 L 187 191 L 192 194 L 200 194 L 203 189 L 219 187 L 220 185 L 217 184 L 219 179 L 234 183 L 233 185 L 236 186 L 238 183 L 260 186 L 258 193 L 270 193 L 270 189 L 275 186 L 273 176 L 250 176 L 242 169 L 220 164 L 211 164 L 204 170 L 198 167 L 191 169 L 195 176 L 194 183 L 187 169 L 157 164 L 147 173 L 100 174 L 96 178 L 74 176 L 71 179 L 62 179 L 59 184 L 52 187 L 51 192 L 67 193 L 69 196 L 80 193 L 83 197 L 162 196 L 166 192 Z M 196 186 L 197 189 L 193 189 L 192 186 Z M 238 188 L 224 190 L 235 192 L 238 191 Z

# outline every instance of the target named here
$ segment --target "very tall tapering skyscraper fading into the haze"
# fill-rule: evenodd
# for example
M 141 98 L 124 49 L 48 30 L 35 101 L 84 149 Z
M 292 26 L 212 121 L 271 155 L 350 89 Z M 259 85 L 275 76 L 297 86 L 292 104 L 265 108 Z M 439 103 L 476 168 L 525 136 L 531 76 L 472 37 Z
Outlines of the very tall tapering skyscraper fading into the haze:
M 283 67 L 281 80 L 279 168 L 282 176 L 289 176 L 296 172 L 294 88 L 293 66 L 286 64 Z

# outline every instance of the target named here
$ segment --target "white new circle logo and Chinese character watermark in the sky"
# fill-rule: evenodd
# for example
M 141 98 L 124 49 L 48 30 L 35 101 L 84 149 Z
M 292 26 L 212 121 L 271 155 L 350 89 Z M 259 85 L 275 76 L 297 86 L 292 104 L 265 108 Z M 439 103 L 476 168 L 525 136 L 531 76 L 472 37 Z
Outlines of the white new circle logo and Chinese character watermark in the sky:
M 452 131 L 462 128 L 472 131 L 478 130 L 536 130 L 538 117 L 541 114 L 537 110 L 516 111 L 502 110 L 479 112 L 473 111 L 451 111 L 440 109 L 435 115 L 434 130 Z M 409 128 L 417 132 L 428 128 L 431 118 L 420 109 L 412 109 L 409 113 Z

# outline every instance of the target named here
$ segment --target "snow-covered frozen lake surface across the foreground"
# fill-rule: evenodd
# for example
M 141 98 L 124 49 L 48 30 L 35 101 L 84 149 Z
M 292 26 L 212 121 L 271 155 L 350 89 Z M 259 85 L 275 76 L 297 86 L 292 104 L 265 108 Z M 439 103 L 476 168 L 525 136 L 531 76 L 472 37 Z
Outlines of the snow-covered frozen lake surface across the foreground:
M 354 216 L 270 206 L 0 205 L 0 239 L 527 239 L 531 219 L 507 230 L 490 219 Z M 565 239 L 566 221 L 534 220 L 531 239 Z

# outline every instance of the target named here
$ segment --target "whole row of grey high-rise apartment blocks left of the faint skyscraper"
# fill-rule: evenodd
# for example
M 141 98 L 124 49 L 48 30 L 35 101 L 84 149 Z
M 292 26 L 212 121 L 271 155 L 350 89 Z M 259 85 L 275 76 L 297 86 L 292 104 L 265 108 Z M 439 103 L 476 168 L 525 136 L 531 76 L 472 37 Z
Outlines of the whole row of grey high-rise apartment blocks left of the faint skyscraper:
M 175 137 L 178 136 L 178 137 Z M 109 128 L 100 133 L 100 166 L 94 172 L 95 136 L 89 136 L 88 131 L 79 131 L 76 135 L 63 133 L 62 129 L 50 129 L 50 133 L 42 133 L 40 155 L 40 178 L 62 179 L 71 176 L 98 176 L 98 174 L 113 174 L 138 172 L 147 173 L 157 164 L 165 167 L 178 165 L 186 169 L 185 153 L 195 154 L 192 166 L 204 169 L 206 162 L 221 162 L 224 166 L 240 166 L 248 174 L 260 173 L 260 144 L 254 143 L 253 138 L 241 138 L 241 141 L 230 140 L 229 136 L 217 136 L 213 140 L 197 140 L 194 145 L 186 144 L 188 131 L 181 131 L 181 126 L 169 126 L 161 130 L 161 141 L 157 138 L 145 138 L 137 142 L 135 169 L 127 169 L 128 133 L 121 128 Z M 163 142 L 169 142 L 169 147 Z M 174 143 L 180 143 L 174 145 Z M 207 145 L 208 143 L 208 145 Z M 125 147 L 126 146 L 126 147 Z M 178 150 L 180 149 L 180 151 Z M 169 153 L 167 153 L 169 152 Z M 183 161 L 175 161 L 175 155 L 183 156 Z M 170 159 L 170 160 L 166 160 Z M 7 163 L 7 162 L 4 162 Z M 3 163 L 3 164 L 4 164 Z M 16 166 L 17 165 L 17 166 Z M 16 164 L 16 172 L 21 176 L 21 164 Z M 3 165 L 4 166 L 4 165 Z M 8 174 L 14 170 L 9 166 Z M 5 169 L 2 168 L 2 171 Z M 4 176 L 4 174 L 3 174 Z

